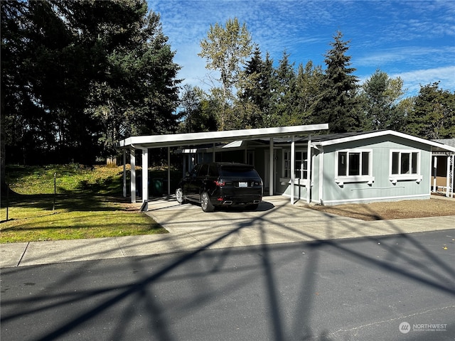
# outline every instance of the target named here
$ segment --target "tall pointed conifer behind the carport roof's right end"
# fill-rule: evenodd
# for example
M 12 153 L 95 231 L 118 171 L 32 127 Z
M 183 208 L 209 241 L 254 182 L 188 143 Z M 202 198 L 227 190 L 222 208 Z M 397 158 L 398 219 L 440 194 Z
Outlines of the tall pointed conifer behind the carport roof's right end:
M 326 71 L 323 77 L 321 99 L 318 102 L 314 123 L 328 123 L 331 133 L 358 131 L 362 120 L 358 110 L 358 78 L 350 67 L 350 56 L 346 55 L 349 41 L 343 41 L 343 33 L 338 31 L 330 43 L 324 60 Z

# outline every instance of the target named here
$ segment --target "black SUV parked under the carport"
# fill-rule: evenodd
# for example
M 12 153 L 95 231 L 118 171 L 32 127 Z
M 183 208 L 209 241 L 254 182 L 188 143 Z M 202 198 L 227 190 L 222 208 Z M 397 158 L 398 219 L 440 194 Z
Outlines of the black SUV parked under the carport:
M 199 163 L 178 184 L 176 198 L 181 204 L 200 202 L 204 212 L 213 212 L 215 206 L 256 210 L 262 200 L 262 179 L 251 165 Z

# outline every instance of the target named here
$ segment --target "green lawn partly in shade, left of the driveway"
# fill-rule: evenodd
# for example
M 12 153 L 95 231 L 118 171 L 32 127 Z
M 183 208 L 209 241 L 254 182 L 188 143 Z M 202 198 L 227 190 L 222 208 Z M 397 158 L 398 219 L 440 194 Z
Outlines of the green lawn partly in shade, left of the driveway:
M 165 173 L 151 170 L 152 177 Z M 122 175 L 122 167 L 7 167 L 11 191 L 1 196 L 0 243 L 167 233 L 124 200 Z

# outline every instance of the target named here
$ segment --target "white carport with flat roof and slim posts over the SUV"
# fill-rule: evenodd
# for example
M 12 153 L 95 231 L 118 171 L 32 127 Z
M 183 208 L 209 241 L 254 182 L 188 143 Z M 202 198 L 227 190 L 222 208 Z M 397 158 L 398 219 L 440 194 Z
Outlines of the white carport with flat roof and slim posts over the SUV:
M 171 147 L 181 146 L 196 146 L 200 144 L 213 144 L 219 142 L 232 142 L 236 140 L 249 140 L 259 138 L 269 138 L 269 195 L 273 195 L 273 139 L 274 137 L 289 137 L 291 139 L 291 175 L 294 177 L 294 150 L 296 136 L 306 135 L 311 131 L 321 131 L 328 129 L 328 124 L 308 124 L 303 126 L 280 126 L 275 128 L 259 128 L 259 129 L 240 129 L 228 131 L 208 131 L 201 133 L 188 134 L 164 134 L 164 135 L 149 135 L 149 136 L 131 136 L 118 142 L 117 148 L 123 151 L 123 196 L 127 197 L 127 152 L 130 155 L 131 164 L 131 202 L 136 202 L 136 150 L 142 151 L 142 202 L 146 205 L 149 198 L 149 149 L 151 148 L 167 148 L 168 150 L 168 195 L 171 194 Z M 294 178 L 291 179 L 294 181 Z M 293 186 L 291 186 L 293 188 Z M 294 193 L 291 190 L 291 203 L 294 204 Z M 143 205 L 144 206 L 144 205 Z

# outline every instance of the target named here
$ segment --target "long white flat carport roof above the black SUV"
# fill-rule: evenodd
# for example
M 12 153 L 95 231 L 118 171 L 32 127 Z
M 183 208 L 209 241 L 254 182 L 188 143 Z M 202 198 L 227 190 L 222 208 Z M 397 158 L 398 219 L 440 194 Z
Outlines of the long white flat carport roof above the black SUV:
M 299 136 L 306 132 L 326 130 L 328 124 L 279 126 L 275 128 L 208 131 L 203 133 L 131 136 L 119 141 L 117 148 L 159 148 L 210 144 L 221 141 L 251 140 L 264 137 Z

